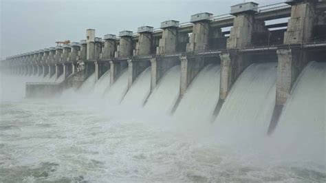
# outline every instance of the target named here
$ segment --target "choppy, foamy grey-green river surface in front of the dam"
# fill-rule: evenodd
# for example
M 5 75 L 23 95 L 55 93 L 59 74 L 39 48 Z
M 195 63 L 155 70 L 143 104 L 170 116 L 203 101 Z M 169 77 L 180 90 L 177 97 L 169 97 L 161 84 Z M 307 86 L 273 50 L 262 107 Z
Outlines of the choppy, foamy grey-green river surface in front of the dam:
M 0 102 L 0 182 L 326 181 L 323 160 L 284 158 L 267 136 L 219 136 L 207 121 L 190 130 L 180 116 L 102 98 L 9 93 Z M 287 151 L 303 151 L 295 147 Z

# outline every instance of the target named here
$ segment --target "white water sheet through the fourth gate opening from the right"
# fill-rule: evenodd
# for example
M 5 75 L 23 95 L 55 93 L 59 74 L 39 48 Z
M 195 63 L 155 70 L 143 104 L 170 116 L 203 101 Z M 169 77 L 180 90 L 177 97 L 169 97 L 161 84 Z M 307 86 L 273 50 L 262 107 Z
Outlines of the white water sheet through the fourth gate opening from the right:
M 180 65 L 169 69 L 149 96 L 146 109 L 169 114 L 177 101 L 180 91 Z

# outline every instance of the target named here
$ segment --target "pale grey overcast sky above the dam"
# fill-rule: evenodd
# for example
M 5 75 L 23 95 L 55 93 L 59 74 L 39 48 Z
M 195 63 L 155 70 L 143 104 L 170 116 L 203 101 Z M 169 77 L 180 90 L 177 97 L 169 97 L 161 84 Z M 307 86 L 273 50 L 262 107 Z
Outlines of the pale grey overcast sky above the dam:
M 136 32 L 142 25 L 159 28 L 162 21 L 190 21 L 191 14 L 226 14 L 243 0 L 0 0 L 0 57 L 55 45 L 55 41 Z M 285 0 L 256 0 L 260 6 Z

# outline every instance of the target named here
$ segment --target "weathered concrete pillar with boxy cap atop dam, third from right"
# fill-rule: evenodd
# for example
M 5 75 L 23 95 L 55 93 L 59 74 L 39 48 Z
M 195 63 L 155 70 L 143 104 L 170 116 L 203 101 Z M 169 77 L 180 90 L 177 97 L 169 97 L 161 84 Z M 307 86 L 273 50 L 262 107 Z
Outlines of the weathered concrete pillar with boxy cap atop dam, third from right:
M 193 34 L 191 34 L 187 44 L 187 52 L 204 52 L 208 50 L 209 22 L 213 14 L 208 12 L 194 14 L 191 16 L 193 24 Z

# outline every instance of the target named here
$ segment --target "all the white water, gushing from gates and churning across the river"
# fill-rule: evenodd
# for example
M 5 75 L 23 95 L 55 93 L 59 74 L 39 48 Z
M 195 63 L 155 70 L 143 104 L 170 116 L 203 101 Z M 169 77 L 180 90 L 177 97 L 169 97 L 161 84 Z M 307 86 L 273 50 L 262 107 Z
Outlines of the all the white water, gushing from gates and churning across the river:
M 275 63 L 250 65 L 213 123 L 219 65 L 198 74 L 174 114 L 180 66 L 144 107 L 150 68 L 128 92 L 127 72 L 111 87 L 107 72 L 53 99 L 23 98 L 25 82 L 51 78 L 1 74 L 0 182 L 325 182 L 325 72 L 305 68 L 270 137 Z

